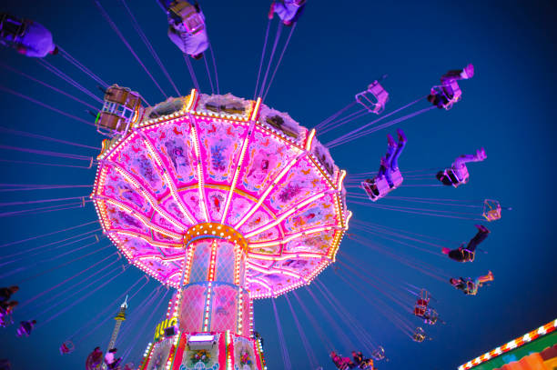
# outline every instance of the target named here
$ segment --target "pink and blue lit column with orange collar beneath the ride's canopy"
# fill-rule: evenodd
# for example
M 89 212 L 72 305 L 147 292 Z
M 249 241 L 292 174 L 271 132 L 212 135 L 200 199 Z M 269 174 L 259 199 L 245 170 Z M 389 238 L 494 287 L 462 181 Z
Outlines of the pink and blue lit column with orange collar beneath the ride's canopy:
M 184 247 L 176 313 L 180 332 L 251 335 L 244 237 L 227 225 L 198 224 L 187 230 Z

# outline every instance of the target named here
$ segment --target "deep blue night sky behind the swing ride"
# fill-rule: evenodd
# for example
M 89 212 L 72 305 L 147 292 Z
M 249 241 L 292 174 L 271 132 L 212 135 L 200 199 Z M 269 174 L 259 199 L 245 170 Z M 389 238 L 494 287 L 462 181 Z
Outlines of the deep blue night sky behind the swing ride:
M 331 268 L 319 276 L 319 281 L 329 287 L 343 306 L 340 312 L 348 311 L 360 322 L 373 343 L 386 349 L 390 361 L 376 364 L 380 369 L 456 369 L 471 358 L 556 317 L 557 249 L 554 240 L 557 232 L 552 221 L 556 205 L 553 193 L 556 180 L 553 142 L 556 133 L 555 103 L 552 99 L 557 82 L 554 67 L 557 38 L 553 27 L 557 12 L 552 3 L 535 0 L 528 2 L 529 5 L 523 1 L 309 0 L 299 20 L 267 96 L 268 105 L 288 111 L 301 125 L 313 127 L 348 105 L 353 96 L 373 79 L 388 74 L 384 85 L 390 91 L 390 103 L 386 109 L 389 112 L 427 95 L 430 86 L 438 84 L 440 76 L 447 70 L 473 63 L 476 75 L 461 83 L 462 101 L 451 111 L 431 110 L 400 125 L 335 147 L 331 149 L 331 155 L 349 175 L 375 171 L 386 148 L 385 135 L 388 132 L 394 134 L 396 127 L 403 128 L 409 140 L 400 157 L 403 174 L 424 168 L 441 169 L 451 165 L 457 155 L 473 153 L 484 146 L 488 158 L 482 163 L 469 165 L 471 181 L 468 185 L 458 189 L 407 186 L 392 195 L 466 200 L 491 198 L 513 208 L 510 212 L 503 211 L 500 221 L 487 225 L 491 235 L 481 246 L 488 254 L 478 254 L 473 264 L 458 264 L 441 254 L 425 253 L 412 246 L 440 252 L 438 247 L 408 240 L 406 245 L 402 245 L 378 235 L 366 235 L 352 227 L 349 233 L 369 238 L 370 246 L 345 238 L 340 246 L 337 274 L 351 280 L 358 279 L 342 264 L 353 265 L 357 270 L 367 271 L 370 279 L 379 286 L 361 281 L 357 283 L 361 286 L 360 293 L 357 293 Z M 103 0 L 102 4 L 157 82 L 170 95 L 173 91 L 171 85 L 137 36 L 122 4 L 116 0 Z M 166 15 L 155 0 L 128 0 L 127 4 L 180 92 L 187 95 L 192 87 L 191 79 L 181 53 L 167 39 Z M 214 0 L 203 1 L 201 5 L 207 16 L 208 32 L 217 59 L 220 92 L 250 98 L 257 78 L 269 2 Z M 11 14 L 46 25 L 58 45 L 107 83 L 129 86 L 141 92 L 150 103 L 164 100 L 92 1 L 7 1 L 3 8 Z M 271 26 L 269 46 L 276 27 L 275 20 Z M 283 32 L 283 40 L 286 35 L 288 30 Z M 46 60 L 102 96 L 95 82 L 61 55 L 49 55 Z M 93 119 L 86 114 L 85 105 L 16 75 L 6 70 L 5 66 L 54 85 L 88 104 L 98 108 L 100 105 L 46 71 L 35 59 L 2 48 L 0 63 L 3 108 L 0 113 L 0 126 L 3 127 L 0 136 L 3 176 L 0 190 L 3 224 L 0 285 L 19 284 L 21 290 L 15 298 L 20 302 L 46 291 L 15 314 L 17 322 L 37 318 L 39 325 L 33 335 L 15 338 L 15 326 L 0 330 L 0 358 L 9 358 L 15 370 L 37 368 L 37 364 L 45 370 L 83 368 L 86 355 L 93 347 L 100 345 L 105 349 L 114 321 L 108 319 L 99 324 L 106 317 L 116 314 L 116 304 L 121 301 L 116 299 L 129 286 L 136 284 L 142 274 L 136 268 L 123 272 L 121 266 L 127 265 L 126 262 L 114 262 L 116 248 L 108 246 L 105 237 L 93 244 L 96 239 L 92 235 L 100 236 L 96 223 L 22 244 L 5 245 L 96 220 L 90 203 L 84 208 L 59 212 L 6 215 L 7 212 L 24 209 L 5 205 L 9 202 L 88 195 L 95 176 L 94 169 L 7 162 L 87 165 L 86 161 L 43 157 L 10 148 L 24 147 L 85 156 L 97 154 L 96 149 L 13 135 L 5 129 L 47 135 L 97 148 L 103 138 L 92 126 L 6 93 L 5 88 L 8 88 L 70 115 L 90 121 Z M 202 91 L 210 92 L 203 61 L 194 61 L 194 68 Z M 410 108 L 410 112 L 411 109 L 415 111 L 427 106 L 428 103 L 422 101 Z M 370 115 L 360 118 L 320 135 L 319 139 L 327 143 L 374 118 Z M 6 191 L 6 184 L 84 186 Z M 411 184 L 410 181 L 408 184 Z M 436 182 L 434 179 L 421 180 L 421 184 Z M 352 188 L 350 192 L 361 194 L 359 189 Z M 73 202 L 76 201 L 66 203 Z M 388 198 L 382 204 L 425 206 Z M 349 209 L 354 213 L 353 221 L 385 225 L 457 243 L 468 240 L 475 233 L 474 221 L 471 220 L 401 213 L 350 202 Z M 460 207 L 451 209 L 470 212 Z M 83 239 L 74 244 L 48 246 L 87 231 L 92 233 L 71 239 Z M 38 247 L 42 248 L 34 249 Z M 66 254 L 72 250 L 72 253 Z M 28 252 L 20 254 L 25 251 Z M 430 270 L 430 266 L 435 266 L 443 272 L 443 277 L 432 278 L 382 251 L 389 251 L 404 260 L 418 261 L 421 269 Z M 76 260 L 79 257 L 83 258 Z M 104 261 L 91 267 L 104 258 Z M 67 284 L 47 291 L 87 268 L 86 272 Z M 476 276 L 488 270 L 495 275 L 495 281 L 491 286 L 482 288 L 477 296 L 462 295 L 446 280 L 449 275 Z M 112 277 L 114 280 L 101 287 Z M 127 360 L 135 364 L 138 364 L 152 339 L 155 325 L 164 315 L 170 296 L 166 288 L 156 291 L 159 286 L 156 282 L 151 280 L 147 285 L 145 282 L 145 279 L 139 281 L 132 290 L 136 292 L 144 285 L 129 302 L 128 320 L 116 345 L 122 354 L 133 345 Z M 434 306 L 446 324 L 424 326 L 432 341 L 414 343 L 391 322 L 392 309 L 409 325 L 420 325 L 416 317 L 404 312 L 400 305 L 384 295 L 386 292 L 402 296 L 405 302 L 411 302 L 412 296 L 402 289 L 406 284 L 426 287 L 437 300 Z M 318 298 L 322 297 L 314 285 L 310 289 Z M 360 332 L 353 333 L 342 326 L 343 333 L 357 347 L 352 348 L 342 340 L 343 334 L 334 328 L 329 317 L 322 314 L 306 288 L 300 289 L 298 295 L 339 352 L 348 355 L 352 349 L 363 349 Z M 361 295 L 380 308 L 370 305 Z M 312 351 L 319 359 L 319 365 L 326 370 L 333 369 L 328 348 L 310 325 L 296 298 L 289 295 L 289 299 L 309 338 Z M 310 367 L 309 355 L 301 345 L 286 299 L 279 297 L 276 303 L 293 368 L 314 370 Z M 327 302 L 322 305 L 329 310 L 335 322 L 343 325 L 337 311 Z M 385 306 L 390 308 L 385 311 Z M 60 310 L 66 311 L 54 317 Z M 107 314 L 97 318 L 103 310 Z M 383 315 L 384 312 L 386 315 Z M 255 326 L 265 338 L 268 369 L 284 368 L 269 300 L 255 303 Z M 59 355 L 58 346 L 78 329 L 82 330 L 75 338 L 76 351 L 71 355 Z

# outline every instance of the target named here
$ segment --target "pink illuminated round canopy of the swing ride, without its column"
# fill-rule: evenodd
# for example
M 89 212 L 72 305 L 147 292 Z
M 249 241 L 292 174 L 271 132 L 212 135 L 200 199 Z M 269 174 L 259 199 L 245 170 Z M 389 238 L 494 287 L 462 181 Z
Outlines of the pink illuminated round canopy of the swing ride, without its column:
M 252 297 L 309 284 L 348 228 L 344 172 L 288 114 L 195 90 L 180 101 L 169 115 L 151 109 L 156 118 L 146 113 L 99 155 L 92 198 L 106 235 L 176 287 L 187 229 L 228 225 L 248 241 Z

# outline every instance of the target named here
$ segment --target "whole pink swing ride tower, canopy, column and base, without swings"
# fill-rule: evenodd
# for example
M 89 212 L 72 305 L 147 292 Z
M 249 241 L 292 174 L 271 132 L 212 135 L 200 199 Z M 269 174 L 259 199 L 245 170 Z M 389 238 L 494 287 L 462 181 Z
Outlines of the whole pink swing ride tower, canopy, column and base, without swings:
M 346 174 L 314 130 L 260 99 L 192 90 L 133 107 L 99 130 L 110 139 L 91 197 L 128 261 L 177 289 L 139 368 L 263 370 L 253 300 L 334 262 Z

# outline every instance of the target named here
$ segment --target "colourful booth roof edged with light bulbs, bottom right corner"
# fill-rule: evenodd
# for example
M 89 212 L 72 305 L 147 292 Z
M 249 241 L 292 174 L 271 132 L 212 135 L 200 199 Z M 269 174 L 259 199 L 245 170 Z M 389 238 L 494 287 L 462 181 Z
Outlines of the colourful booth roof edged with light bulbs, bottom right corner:
M 557 370 L 557 319 L 501 345 L 458 370 Z

